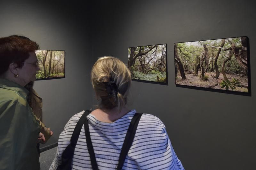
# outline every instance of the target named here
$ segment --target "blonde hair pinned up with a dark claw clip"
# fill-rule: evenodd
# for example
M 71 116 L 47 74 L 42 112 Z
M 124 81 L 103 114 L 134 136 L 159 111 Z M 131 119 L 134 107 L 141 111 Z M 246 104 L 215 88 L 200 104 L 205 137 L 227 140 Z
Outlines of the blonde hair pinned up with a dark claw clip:
M 101 101 L 99 107 L 112 109 L 122 107 L 127 102 L 131 86 L 131 73 L 118 58 L 101 57 L 92 67 L 92 87 Z

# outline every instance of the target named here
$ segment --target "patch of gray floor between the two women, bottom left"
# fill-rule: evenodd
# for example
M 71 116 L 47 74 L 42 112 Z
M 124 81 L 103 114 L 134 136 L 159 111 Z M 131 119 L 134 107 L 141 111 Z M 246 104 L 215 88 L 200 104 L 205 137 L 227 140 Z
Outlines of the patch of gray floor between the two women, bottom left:
M 52 161 L 55 158 L 56 151 L 57 151 L 57 146 L 40 153 L 39 161 L 40 161 L 41 170 L 49 170 L 52 164 Z

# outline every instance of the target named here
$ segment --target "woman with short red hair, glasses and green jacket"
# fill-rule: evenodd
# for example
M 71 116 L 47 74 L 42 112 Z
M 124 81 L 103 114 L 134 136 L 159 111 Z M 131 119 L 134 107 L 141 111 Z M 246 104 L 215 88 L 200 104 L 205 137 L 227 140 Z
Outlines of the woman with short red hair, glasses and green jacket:
M 40 169 L 36 148 L 40 121 L 29 107 L 28 90 L 36 80 L 38 44 L 27 37 L 0 38 L 0 169 Z

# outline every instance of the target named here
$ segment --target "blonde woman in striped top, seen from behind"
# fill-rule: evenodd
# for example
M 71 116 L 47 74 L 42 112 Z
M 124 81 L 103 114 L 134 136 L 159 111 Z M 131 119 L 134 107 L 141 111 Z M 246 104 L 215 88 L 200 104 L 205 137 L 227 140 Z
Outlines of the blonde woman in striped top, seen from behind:
M 71 169 L 116 169 L 127 129 L 136 110 L 126 107 L 131 87 L 131 73 L 114 57 L 99 58 L 91 72 L 92 87 L 99 99 L 98 108 L 86 118 L 92 147 L 88 146 L 84 126 L 78 137 Z M 74 115 L 60 134 L 58 150 L 50 169 L 61 169 L 63 151 L 84 111 Z M 88 150 L 89 149 L 89 150 Z M 96 161 L 93 162 L 91 151 Z M 90 152 L 90 153 L 88 153 Z M 96 166 L 96 168 L 95 168 Z M 121 169 L 184 169 L 177 158 L 163 122 L 151 114 L 140 117 L 131 147 Z

